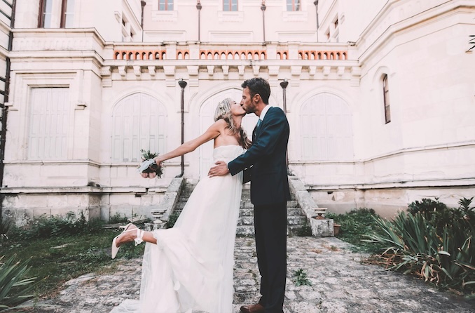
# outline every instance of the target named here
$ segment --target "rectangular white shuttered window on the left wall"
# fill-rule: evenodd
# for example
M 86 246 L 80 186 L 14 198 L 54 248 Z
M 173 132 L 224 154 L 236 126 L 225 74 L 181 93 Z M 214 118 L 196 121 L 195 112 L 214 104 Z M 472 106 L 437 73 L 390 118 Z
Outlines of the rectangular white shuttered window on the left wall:
M 32 88 L 28 159 L 67 159 L 69 88 Z

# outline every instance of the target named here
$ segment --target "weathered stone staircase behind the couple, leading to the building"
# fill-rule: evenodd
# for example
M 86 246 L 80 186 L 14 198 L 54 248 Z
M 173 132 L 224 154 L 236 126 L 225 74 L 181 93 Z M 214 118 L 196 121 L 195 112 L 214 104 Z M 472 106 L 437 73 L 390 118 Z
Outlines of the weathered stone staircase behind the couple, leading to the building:
M 181 190 L 174 213 L 170 215 L 168 227 L 174 224 L 174 220 L 183 210 L 188 197 L 195 188 L 195 184 L 188 183 Z M 308 225 L 307 217 L 303 213 L 298 201 L 292 195 L 292 199 L 287 201 L 287 235 L 288 236 L 311 236 L 312 230 Z M 237 237 L 254 237 L 254 206 L 251 203 L 251 193 L 249 183 L 245 184 L 242 189 L 240 213 L 238 219 Z

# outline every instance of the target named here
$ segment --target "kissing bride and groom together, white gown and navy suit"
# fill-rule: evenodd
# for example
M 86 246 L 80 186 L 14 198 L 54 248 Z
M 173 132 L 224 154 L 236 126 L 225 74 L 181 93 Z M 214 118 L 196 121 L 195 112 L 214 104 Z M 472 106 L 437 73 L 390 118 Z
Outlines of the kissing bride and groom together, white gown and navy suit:
M 131 312 L 233 312 L 235 234 L 242 183 L 250 180 L 261 298 L 240 311 L 283 313 L 289 123 L 282 109 L 268 104 L 266 79 L 247 79 L 241 86 L 240 103 L 221 101 L 205 133 L 154 158 L 160 166 L 214 140 L 215 164 L 196 185 L 174 227 L 144 232 L 129 224 L 113 239 L 112 258 L 121 244 L 147 243 L 140 300 Z M 241 127 L 247 113 L 259 116 L 252 142 Z

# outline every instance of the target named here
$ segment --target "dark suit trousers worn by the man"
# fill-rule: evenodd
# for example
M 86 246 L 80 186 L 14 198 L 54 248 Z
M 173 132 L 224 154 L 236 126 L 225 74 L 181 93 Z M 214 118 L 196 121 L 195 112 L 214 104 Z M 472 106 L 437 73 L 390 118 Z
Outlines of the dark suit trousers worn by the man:
M 254 206 L 257 264 L 266 313 L 283 313 L 287 276 L 287 201 Z

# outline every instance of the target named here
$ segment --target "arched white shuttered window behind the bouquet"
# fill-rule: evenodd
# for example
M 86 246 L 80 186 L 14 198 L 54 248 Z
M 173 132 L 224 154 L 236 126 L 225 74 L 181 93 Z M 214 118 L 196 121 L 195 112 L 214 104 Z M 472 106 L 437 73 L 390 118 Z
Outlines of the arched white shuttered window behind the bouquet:
M 140 149 L 165 151 L 165 107 L 156 98 L 135 93 L 124 98 L 112 113 L 113 162 L 139 162 Z

